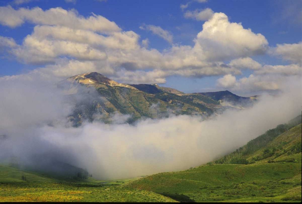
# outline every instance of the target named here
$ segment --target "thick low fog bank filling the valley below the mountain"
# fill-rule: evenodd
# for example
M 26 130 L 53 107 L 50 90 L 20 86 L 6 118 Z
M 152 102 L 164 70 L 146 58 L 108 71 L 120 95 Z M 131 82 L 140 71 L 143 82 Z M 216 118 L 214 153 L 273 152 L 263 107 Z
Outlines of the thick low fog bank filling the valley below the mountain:
M 33 158 L 49 158 L 86 168 L 99 179 L 204 164 L 297 116 L 302 105 L 300 81 L 292 80 L 278 96 L 263 96 L 250 109 L 228 110 L 207 120 L 171 115 L 129 125 L 123 123 L 128 116 L 114 114 L 113 124 L 83 121 L 75 128 L 66 122 L 70 106 L 51 84 L 14 82 L 18 83 L 0 82 L 6 96 L 0 101 L 0 135 L 7 135 L 0 143 L 0 158 L 15 156 L 27 165 Z

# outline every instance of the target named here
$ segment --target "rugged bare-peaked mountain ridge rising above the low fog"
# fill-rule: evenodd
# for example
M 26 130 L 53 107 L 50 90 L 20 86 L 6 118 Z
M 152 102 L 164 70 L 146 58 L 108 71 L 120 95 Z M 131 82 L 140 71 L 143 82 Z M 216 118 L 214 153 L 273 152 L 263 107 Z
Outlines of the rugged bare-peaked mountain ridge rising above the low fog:
M 185 94 L 157 84 L 123 84 L 97 72 L 69 77 L 58 87 L 65 92 L 66 100 L 75 105 L 69 116 L 74 126 L 84 120 L 112 123 L 114 114 L 127 115 L 127 123 L 141 117 L 168 117 L 171 113 L 208 117 L 227 108 L 249 107 L 255 101 L 229 91 Z

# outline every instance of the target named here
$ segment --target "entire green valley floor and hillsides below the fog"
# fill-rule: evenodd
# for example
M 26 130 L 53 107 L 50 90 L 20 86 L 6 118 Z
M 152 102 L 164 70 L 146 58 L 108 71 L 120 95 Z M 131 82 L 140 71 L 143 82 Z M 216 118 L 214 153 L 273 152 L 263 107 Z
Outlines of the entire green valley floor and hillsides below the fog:
M 300 115 L 221 159 L 141 178 L 71 179 L 1 165 L 0 201 L 301 202 L 301 127 Z

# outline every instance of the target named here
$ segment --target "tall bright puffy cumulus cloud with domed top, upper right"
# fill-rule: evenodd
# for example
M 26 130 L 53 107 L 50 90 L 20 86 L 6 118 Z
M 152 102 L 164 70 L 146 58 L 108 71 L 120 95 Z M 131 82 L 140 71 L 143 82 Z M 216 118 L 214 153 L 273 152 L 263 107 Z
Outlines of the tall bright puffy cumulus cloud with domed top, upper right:
M 224 60 L 264 54 L 268 47 L 262 34 L 244 29 L 241 23 L 230 23 L 224 13 L 215 13 L 202 27 L 195 39 L 195 48 L 204 52 L 208 59 Z

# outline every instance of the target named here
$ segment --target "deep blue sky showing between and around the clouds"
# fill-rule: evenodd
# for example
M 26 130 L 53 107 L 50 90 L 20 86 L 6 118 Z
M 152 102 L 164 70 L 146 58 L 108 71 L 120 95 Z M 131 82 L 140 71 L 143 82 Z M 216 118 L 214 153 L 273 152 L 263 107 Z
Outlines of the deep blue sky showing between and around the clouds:
M 188 4 L 187 8 L 182 9 L 181 5 Z M 209 8 L 213 13 L 222 12 L 228 17 L 230 23 L 241 23 L 244 29 L 251 29 L 252 33 L 261 33 L 268 42 L 268 47 L 265 53 L 260 54 L 247 54 L 246 56 L 240 57 L 249 57 L 256 62 L 259 62 L 262 66 L 264 65 L 292 65 L 296 64 L 300 67 L 300 62 L 297 60 L 287 60 L 286 57 L 288 54 L 282 51 L 280 54 L 269 54 L 269 50 L 275 48 L 277 44 L 297 44 L 301 41 L 302 36 L 302 27 L 301 27 L 301 10 L 302 2 L 299 0 L 292 1 L 278 1 L 278 0 L 208 0 L 198 2 L 198 0 L 184 1 L 184 0 L 173 0 L 173 1 L 141 1 L 141 0 L 132 0 L 132 1 L 118 1 L 118 0 L 107 0 L 107 1 L 72 1 L 66 2 L 64 0 L 59 1 L 30 1 L 30 0 L 19 0 L 19 1 L 0 1 L 0 6 L 7 8 L 10 5 L 14 10 L 19 8 L 32 9 L 34 7 L 39 7 L 46 11 L 50 8 L 61 7 L 66 11 L 72 9 L 78 12 L 78 15 L 81 15 L 85 18 L 92 16 L 92 13 L 95 15 L 100 15 L 113 21 L 120 27 L 123 31 L 133 31 L 140 36 L 141 40 L 148 39 L 149 46 L 147 49 L 156 49 L 160 53 L 169 52 L 169 50 L 174 47 L 180 46 L 191 46 L 193 47 L 195 42 L 193 41 L 196 38 L 197 34 L 203 30 L 203 24 L 207 20 L 197 21 L 193 18 L 186 18 L 186 12 L 193 12 L 197 10 L 198 12 L 203 11 L 206 8 Z M 1 10 L 0 10 L 1 12 Z M 0 16 L 0 22 L 1 22 Z M 2 21 L 3 22 L 3 21 Z M 24 39 L 27 35 L 33 33 L 33 29 L 37 25 L 43 25 L 43 23 L 35 23 L 31 20 L 25 20 L 23 24 L 20 24 L 16 27 L 5 25 L 1 23 L 0 25 L 0 36 L 5 37 L 6 39 L 12 38 L 17 45 L 22 45 Z M 172 37 L 173 42 L 168 42 L 163 37 L 160 37 L 158 34 L 154 33 L 148 28 L 148 25 L 159 26 L 162 30 L 167 31 Z M 140 27 L 145 26 L 145 29 Z M 105 33 L 104 36 L 110 34 Z M 140 43 L 141 44 L 141 43 Z M 1 58 L 0 58 L 0 77 L 5 75 L 20 75 L 28 73 L 31 70 L 39 69 L 41 67 L 47 67 L 51 65 L 56 65 L 58 62 L 56 60 L 60 59 L 77 59 L 77 57 L 70 57 L 68 54 L 59 55 L 52 62 L 43 62 L 43 63 L 32 63 L 25 62 L 26 60 L 20 59 L 20 56 L 12 54 L 12 51 L 7 46 L 0 47 L 2 49 Z M 26 47 L 25 47 L 26 48 Z M 25 49 L 24 48 L 24 49 Z M 298 48 L 299 49 L 299 48 Z M 168 51 L 167 51 L 168 50 Z M 301 51 L 301 50 L 299 50 Z M 289 52 L 289 51 L 286 51 Z M 237 59 L 238 56 L 227 57 L 223 60 L 218 60 L 225 64 L 230 63 L 231 60 Z M 81 61 L 81 60 L 80 60 Z M 218 62 L 218 61 L 215 61 Z M 87 60 L 85 59 L 85 62 Z M 93 61 L 95 63 L 95 61 Z M 108 63 L 107 63 L 108 64 Z M 110 66 L 119 66 L 119 68 L 114 67 L 113 69 L 120 69 L 122 65 L 110 65 Z M 124 69 L 124 68 L 123 68 Z M 152 71 L 160 70 L 161 67 L 149 67 L 139 68 L 133 71 L 132 69 L 126 68 L 128 70 L 128 75 L 131 75 L 130 72 L 137 71 Z M 179 68 L 178 70 L 181 70 Z M 195 68 L 194 68 L 195 69 Z M 274 69 L 275 70 L 275 69 Z M 83 70 L 85 71 L 85 70 Z M 98 70 L 96 70 L 98 71 Z M 114 72 L 115 72 L 114 71 Z M 125 71 L 125 70 L 124 70 Z M 249 78 L 251 74 L 254 74 L 255 69 L 242 69 L 241 74 L 232 74 L 232 77 L 236 77 L 238 81 L 240 78 Z M 108 72 L 112 77 L 120 82 L 129 83 L 131 78 L 124 78 L 123 74 L 115 75 L 113 72 Z M 119 72 L 121 73 L 121 72 Z M 123 72 L 124 73 L 124 72 Z M 203 72 L 204 73 L 204 72 Z M 278 72 L 279 73 L 279 72 Z M 296 72 L 295 72 L 296 73 Z M 81 73 L 77 73 L 81 74 Z M 136 73 L 137 74 L 137 73 Z M 236 93 L 252 93 L 251 90 L 240 91 L 240 83 L 238 81 L 237 85 L 235 82 L 232 82 L 230 86 L 226 83 L 223 86 L 217 87 L 217 80 L 222 78 L 227 73 L 222 74 L 165 74 L 161 78 L 165 78 L 165 83 L 162 86 L 172 87 L 179 89 L 184 92 L 201 92 L 207 90 L 222 90 L 222 89 L 231 89 Z M 281 73 L 282 74 L 282 73 Z M 108 75 L 107 73 L 105 75 Z M 267 75 L 267 73 L 266 73 Z M 288 75 L 288 74 L 287 74 Z M 292 75 L 297 75 L 292 74 Z M 135 75 L 137 76 L 137 75 Z M 133 76 L 133 77 L 135 77 Z M 147 77 L 147 76 L 146 76 Z M 259 76 L 260 77 L 260 76 Z M 261 76 L 263 78 L 263 76 Z M 279 79 L 274 77 L 269 78 L 268 83 L 279 83 Z M 233 78 L 231 78 L 233 80 Z M 130 80 L 130 81 L 129 81 Z M 150 81 L 151 80 L 151 81 Z M 151 83 L 152 79 L 146 80 L 146 83 Z M 268 80 L 268 79 L 267 79 Z M 273 81 L 275 80 L 275 81 Z M 276 81 L 277 80 L 277 81 Z M 279 80 L 279 81 L 278 81 Z M 262 81 L 259 79 L 258 81 Z M 140 82 L 140 81 L 138 81 Z M 143 83 L 143 81 L 141 81 Z M 156 82 L 156 81 L 155 81 Z M 160 82 L 160 80 L 159 80 Z M 223 84 L 223 83 L 221 83 Z M 236 88 L 235 88 L 236 86 Z M 239 87 L 239 88 L 238 88 Z M 261 91 L 272 91 L 273 88 L 257 90 Z

